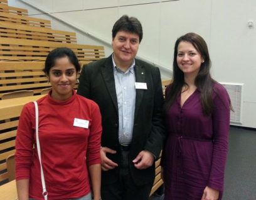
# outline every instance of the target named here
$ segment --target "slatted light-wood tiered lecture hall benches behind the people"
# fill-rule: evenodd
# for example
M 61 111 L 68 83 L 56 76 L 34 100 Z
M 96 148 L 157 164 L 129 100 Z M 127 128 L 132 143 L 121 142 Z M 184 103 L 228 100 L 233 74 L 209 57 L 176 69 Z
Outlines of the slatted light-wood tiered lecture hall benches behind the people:
M 43 73 L 47 54 L 56 47 L 72 49 L 81 64 L 105 57 L 103 46 L 77 44 L 75 32 L 51 29 L 51 21 L 29 17 L 26 9 L 0 0 L 0 199 L 16 198 L 14 153 L 19 115 L 24 104 L 48 93 Z M 163 90 L 170 81 L 163 81 Z M 162 184 L 160 159 L 151 194 Z

